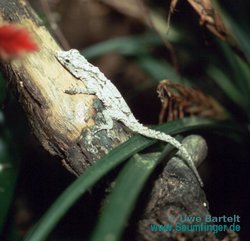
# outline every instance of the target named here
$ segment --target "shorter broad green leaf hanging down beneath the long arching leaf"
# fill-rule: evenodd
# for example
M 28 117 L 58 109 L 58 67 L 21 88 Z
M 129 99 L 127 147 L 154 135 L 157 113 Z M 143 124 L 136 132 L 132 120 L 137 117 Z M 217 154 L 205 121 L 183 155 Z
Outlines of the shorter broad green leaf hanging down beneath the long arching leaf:
M 91 241 L 120 239 L 136 200 L 159 161 L 170 154 L 171 147 L 161 153 L 134 155 L 120 172 L 115 187 L 107 198 L 100 220 L 93 232 Z M 126 193 L 126 200 L 124 194 Z

